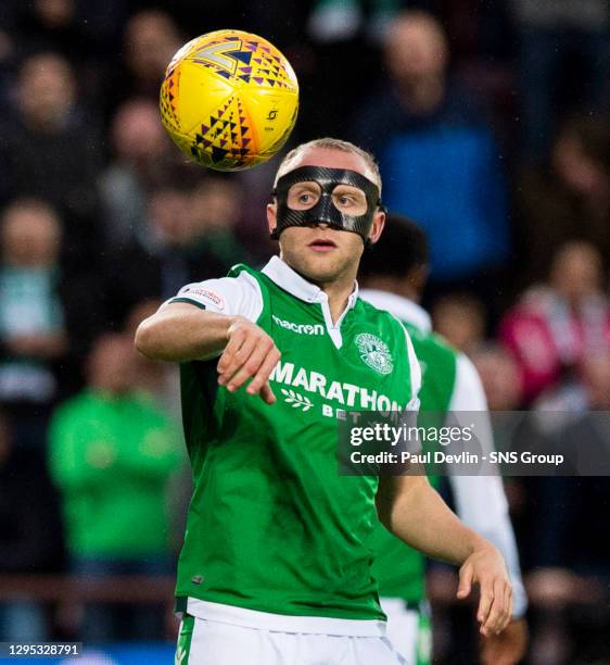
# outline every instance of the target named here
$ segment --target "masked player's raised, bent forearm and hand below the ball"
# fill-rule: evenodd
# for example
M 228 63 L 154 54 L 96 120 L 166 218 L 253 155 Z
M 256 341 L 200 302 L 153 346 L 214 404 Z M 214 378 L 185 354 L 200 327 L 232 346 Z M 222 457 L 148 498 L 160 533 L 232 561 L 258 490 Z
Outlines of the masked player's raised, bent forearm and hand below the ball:
M 144 319 L 136 332 L 137 349 L 152 360 L 188 362 L 220 354 L 218 382 L 246 391 L 268 404 L 276 401 L 268 378 L 280 359 L 274 340 L 240 315 L 218 314 L 195 304 L 169 302 Z

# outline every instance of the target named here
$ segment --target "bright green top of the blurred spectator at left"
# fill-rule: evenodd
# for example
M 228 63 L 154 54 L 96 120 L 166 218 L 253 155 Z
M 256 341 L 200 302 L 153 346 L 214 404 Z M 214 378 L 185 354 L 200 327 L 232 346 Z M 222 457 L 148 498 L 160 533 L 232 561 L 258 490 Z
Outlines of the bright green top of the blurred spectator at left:
M 143 396 L 87 390 L 62 404 L 50 426 L 50 468 L 69 552 L 166 553 L 165 487 L 180 459 L 176 428 Z

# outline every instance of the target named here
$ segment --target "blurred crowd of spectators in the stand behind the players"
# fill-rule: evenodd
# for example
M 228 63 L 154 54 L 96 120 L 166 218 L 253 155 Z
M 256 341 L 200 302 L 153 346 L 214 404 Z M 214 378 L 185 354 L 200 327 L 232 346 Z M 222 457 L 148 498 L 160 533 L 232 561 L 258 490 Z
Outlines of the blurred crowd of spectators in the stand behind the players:
M 491 410 L 610 411 L 607 0 L 4 0 L 0 574 L 173 573 L 189 497 L 177 379 L 136 355 L 134 331 L 182 285 L 276 251 L 278 159 L 204 171 L 160 123 L 171 55 L 225 27 L 294 66 L 288 147 L 335 136 L 376 154 L 384 203 L 429 235 L 423 304 Z M 530 662 L 608 663 L 610 482 L 507 491 Z M 446 589 L 432 580 L 440 608 Z M 153 610 L 0 601 L 0 638 L 171 637 Z M 435 662 L 467 663 L 452 612 Z

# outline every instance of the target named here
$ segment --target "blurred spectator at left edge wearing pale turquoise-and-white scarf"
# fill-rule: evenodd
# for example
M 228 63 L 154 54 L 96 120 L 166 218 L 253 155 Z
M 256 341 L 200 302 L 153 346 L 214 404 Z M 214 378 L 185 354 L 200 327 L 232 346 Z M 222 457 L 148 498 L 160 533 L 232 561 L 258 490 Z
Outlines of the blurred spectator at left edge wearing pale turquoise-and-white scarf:
M 61 269 L 61 223 L 37 199 L 17 199 L 0 228 L 0 400 L 15 436 L 42 446 L 53 401 L 79 384 L 79 365 L 101 325 L 96 279 Z

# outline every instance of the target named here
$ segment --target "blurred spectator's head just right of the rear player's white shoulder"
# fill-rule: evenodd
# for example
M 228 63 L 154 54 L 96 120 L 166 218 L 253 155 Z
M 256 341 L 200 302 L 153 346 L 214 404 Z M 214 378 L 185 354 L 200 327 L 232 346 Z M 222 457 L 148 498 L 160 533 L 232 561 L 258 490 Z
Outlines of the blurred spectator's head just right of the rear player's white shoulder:
M 467 355 L 485 339 L 485 308 L 478 298 L 468 293 L 455 293 L 436 300 L 432 321 L 434 330 Z

